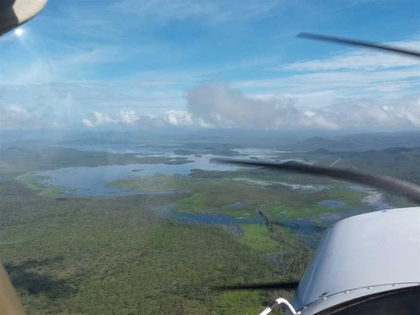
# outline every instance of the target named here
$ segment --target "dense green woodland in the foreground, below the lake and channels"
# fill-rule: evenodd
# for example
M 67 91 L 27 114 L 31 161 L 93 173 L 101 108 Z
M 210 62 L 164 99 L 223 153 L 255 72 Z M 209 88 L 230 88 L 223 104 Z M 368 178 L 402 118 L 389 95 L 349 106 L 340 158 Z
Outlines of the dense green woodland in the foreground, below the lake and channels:
M 264 226 L 236 236 L 159 218 L 154 209 L 176 195 L 40 195 L 11 175 L 0 188 L 2 260 L 29 314 L 254 314 L 271 293 L 210 288 L 304 270 L 264 256 L 288 242 Z M 284 248 L 302 262 L 310 255 L 297 242 Z

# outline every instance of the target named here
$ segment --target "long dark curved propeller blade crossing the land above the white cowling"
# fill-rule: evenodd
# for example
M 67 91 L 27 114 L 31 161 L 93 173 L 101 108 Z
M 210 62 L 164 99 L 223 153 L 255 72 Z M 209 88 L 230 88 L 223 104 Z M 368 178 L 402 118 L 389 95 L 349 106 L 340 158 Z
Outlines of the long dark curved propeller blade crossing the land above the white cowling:
M 379 188 L 387 192 L 401 194 L 417 203 L 420 203 L 420 186 L 391 176 L 370 175 L 348 169 L 314 166 L 294 161 L 286 163 L 276 163 L 270 161 L 235 160 L 226 158 L 214 158 L 211 160 L 219 163 L 263 166 L 272 169 L 280 169 L 304 174 L 327 176 L 341 180 L 348 180 L 350 182 Z

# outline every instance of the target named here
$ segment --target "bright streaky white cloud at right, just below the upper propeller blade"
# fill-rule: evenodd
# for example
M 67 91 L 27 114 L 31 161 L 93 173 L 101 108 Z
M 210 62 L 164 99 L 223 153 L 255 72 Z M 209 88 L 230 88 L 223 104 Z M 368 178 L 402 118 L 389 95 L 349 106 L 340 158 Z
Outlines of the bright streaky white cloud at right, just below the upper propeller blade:
M 420 40 L 388 44 L 418 49 Z M 325 107 L 342 99 L 390 102 L 418 93 L 420 86 L 417 59 L 366 49 L 346 49 L 334 56 L 283 65 L 274 70 L 282 71 L 281 76 L 237 81 L 232 87 L 259 98 L 286 97 L 297 100 L 300 105 L 306 102 L 308 107 Z

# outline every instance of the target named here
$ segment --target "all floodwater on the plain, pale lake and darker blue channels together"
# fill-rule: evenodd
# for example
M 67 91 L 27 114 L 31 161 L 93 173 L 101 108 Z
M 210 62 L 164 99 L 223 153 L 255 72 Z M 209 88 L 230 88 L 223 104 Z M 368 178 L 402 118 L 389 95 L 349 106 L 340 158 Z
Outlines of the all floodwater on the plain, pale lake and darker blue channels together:
M 106 165 L 97 167 L 69 167 L 35 173 L 35 175 L 42 176 L 42 185 L 59 187 L 61 188 L 63 193 L 68 194 L 111 197 L 129 194 L 185 194 L 190 193 L 192 191 L 190 189 L 167 189 L 139 192 L 134 188 L 111 187 L 108 184 L 110 182 L 119 180 L 141 180 L 141 178 L 144 176 L 151 176 L 156 174 L 189 175 L 192 172 L 192 169 L 201 169 L 206 171 L 236 171 L 243 168 L 247 168 L 234 164 L 212 163 L 210 162 L 212 158 L 226 158 L 226 156 L 210 154 L 206 153 L 205 151 L 203 151 L 200 154 L 186 154 L 186 152 L 182 152 L 182 154 L 175 154 L 174 151 L 176 150 L 176 148 L 174 147 L 147 147 L 141 145 L 133 146 L 127 144 L 77 145 L 67 147 L 83 151 L 101 151 L 120 154 L 132 153 L 138 155 L 139 157 L 169 157 L 173 158 L 174 160 L 182 159 L 182 161 L 188 161 L 188 163 L 183 164 L 143 163 L 130 165 Z M 283 155 L 283 157 L 285 156 L 287 158 L 285 158 L 284 161 L 293 159 L 291 153 L 281 150 L 242 148 L 234 149 L 233 151 L 236 151 L 238 153 L 238 155 L 233 158 L 261 158 L 279 160 L 279 155 L 285 154 Z M 311 163 L 311 161 L 307 160 L 305 160 L 304 162 Z M 242 177 L 232 179 L 234 181 L 241 181 L 247 184 L 256 185 L 260 187 L 280 185 L 283 187 L 287 187 L 292 191 L 301 191 L 304 193 L 320 192 L 322 190 L 335 187 L 335 185 L 302 185 L 295 184 L 293 182 L 286 183 Z M 372 210 L 385 210 L 392 208 L 388 203 L 386 203 L 383 194 L 380 192 L 377 192 L 370 188 L 356 185 L 341 185 L 341 187 L 343 189 L 353 190 L 356 192 L 365 192 L 366 195 L 360 200 L 360 202 L 368 204 Z M 362 213 L 360 210 L 348 210 L 348 208 L 347 210 L 344 210 L 347 204 L 346 202 L 340 200 L 326 199 L 318 202 L 317 204 L 321 207 L 325 207 L 326 212 L 316 219 L 303 218 L 291 220 L 290 218 L 282 217 L 282 215 L 280 214 L 278 217 L 275 218 L 276 224 L 293 229 L 299 235 L 299 238 L 302 242 L 313 247 L 317 243 L 317 237 L 322 233 L 322 231 L 326 227 L 343 218 Z M 240 210 L 244 206 L 244 202 L 238 201 L 230 205 L 227 204 L 224 208 L 231 210 Z M 164 207 L 157 208 L 156 210 L 163 217 L 199 224 L 217 224 L 229 227 L 235 227 L 240 224 L 264 224 L 264 219 L 260 215 L 257 215 L 256 217 L 254 216 L 251 219 L 247 217 L 234 218 L 224 213 L 185 213 L 176 211 L 174 204 L 168 204 Z

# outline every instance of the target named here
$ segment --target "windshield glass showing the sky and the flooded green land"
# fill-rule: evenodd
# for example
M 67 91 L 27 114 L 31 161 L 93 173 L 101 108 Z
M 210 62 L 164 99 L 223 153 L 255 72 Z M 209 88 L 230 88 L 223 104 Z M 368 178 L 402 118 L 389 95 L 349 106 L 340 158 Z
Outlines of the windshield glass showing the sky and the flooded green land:
M 14 1 L 12 1 L 14 2 Z M 419 1 L 49 1 L 0 37 L 0 258 L 29 314 L 258 314 L 327 227 L 417 206 Z

